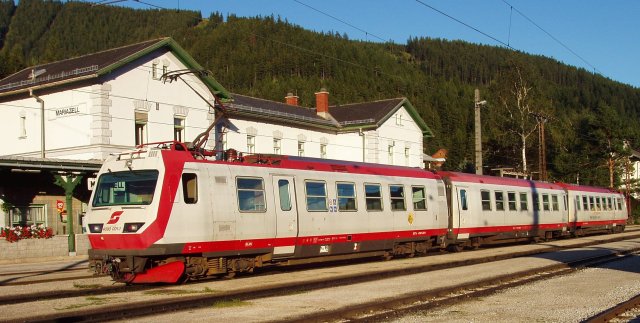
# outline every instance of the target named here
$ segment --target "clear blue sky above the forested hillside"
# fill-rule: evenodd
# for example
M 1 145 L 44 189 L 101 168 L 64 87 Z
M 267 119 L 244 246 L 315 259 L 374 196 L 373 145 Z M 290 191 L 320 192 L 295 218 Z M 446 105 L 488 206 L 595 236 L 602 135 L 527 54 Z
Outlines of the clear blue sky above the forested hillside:
M 225 16 L 273 14 L 306 29 L 337 31 L 347 33 L 351 39 L 375 42 L 379 42 L 377 37 L 380 37 L 404 44 L 412 36 L 464 40 L 495 46 L 503 46 L 502 42 L 516 50 L 551 57 L 640 88 L 640 1 L 636 0 L 420 0 L 422 3 L 415 0 L 141 1 L 162 8 L 200 11 L 205 18 L 212 11 L 221 12 Z M 153 8 L 131 0 L 118 5 Z M 425 5 L 432 6 L 498 41 Z

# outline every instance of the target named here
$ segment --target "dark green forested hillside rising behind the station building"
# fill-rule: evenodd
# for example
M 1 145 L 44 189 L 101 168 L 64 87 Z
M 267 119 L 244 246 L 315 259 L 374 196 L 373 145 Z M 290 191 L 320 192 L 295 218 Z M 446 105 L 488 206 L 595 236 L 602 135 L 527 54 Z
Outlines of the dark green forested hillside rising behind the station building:
M 430 38 L 406 44 L 349 40 L 277 17 L 133 10 L 83 2 L 0 0 L 0 77 L 21 68 L 162 36 L 173 37 L 227 89 L 272 100 L 287 92 L 313 105 L 406 96 L 434 131 L 426 153 L 449 151 L 446 168 L 474 159 L 474 89 L 482 108 L 487 168 L 538 170 L 535 116 L 544 117 L 551 179 L 609 185 L 607 163 L 623 139 L 640 145 L 640 90 L 555 60 L 500 47 Z M 428 35 L 425 35 L 428 37 Z M 516 94 L 526 94 L 518 101 Z M 519 106 L 520 104 L 520 106 Z M 519 112 L 518 112 L 519 111 Z M 518 117 L 520 116 L 520 117 Z

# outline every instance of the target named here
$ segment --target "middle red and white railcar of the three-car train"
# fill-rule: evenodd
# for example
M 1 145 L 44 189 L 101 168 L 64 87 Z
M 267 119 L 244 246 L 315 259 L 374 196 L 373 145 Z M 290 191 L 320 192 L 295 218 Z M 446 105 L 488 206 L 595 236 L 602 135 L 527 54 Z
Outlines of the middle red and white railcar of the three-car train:
M 547 182 L 441 172 L 447 183 L 452 247 L 552 238 L 568 231 L 566 192 Z

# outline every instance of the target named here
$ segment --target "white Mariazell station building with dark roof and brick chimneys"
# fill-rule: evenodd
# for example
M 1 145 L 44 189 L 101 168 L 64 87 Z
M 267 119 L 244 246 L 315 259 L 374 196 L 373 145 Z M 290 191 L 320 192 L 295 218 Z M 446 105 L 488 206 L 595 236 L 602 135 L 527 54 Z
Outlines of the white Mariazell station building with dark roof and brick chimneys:
M 82 202 L 109 154 L 189 142 L 214 120 L 207 149 L 424 166 L 423 140 L 432 132 L 408 99 L 330 102 L 326 89 L 311 107 L 292 94 L 276 102 L 231 93 L 171 38 L 24 69 L 0 80 L 0 227 L 59 222 L 65 192 L 50 184 L 76 176 L 79 232 Z M 33 189 L 18 197 L 25 176 Z M 45 214 L 37 220 L 26 215 L 34 205 Z

